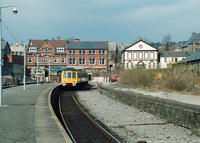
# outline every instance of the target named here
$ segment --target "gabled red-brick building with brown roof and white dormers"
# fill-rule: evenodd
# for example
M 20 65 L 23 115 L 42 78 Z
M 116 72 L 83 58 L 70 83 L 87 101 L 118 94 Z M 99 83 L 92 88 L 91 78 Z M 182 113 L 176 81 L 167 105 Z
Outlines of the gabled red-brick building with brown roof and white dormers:
M 53 81 L 57 78 L 56 68 L 66 68 L 66 40 L 29 40 L 27 68 L 34 79 Z M 50 70 L 51 69 L 51 70 Z M 50 72 L 50 73 L 49 73 Z

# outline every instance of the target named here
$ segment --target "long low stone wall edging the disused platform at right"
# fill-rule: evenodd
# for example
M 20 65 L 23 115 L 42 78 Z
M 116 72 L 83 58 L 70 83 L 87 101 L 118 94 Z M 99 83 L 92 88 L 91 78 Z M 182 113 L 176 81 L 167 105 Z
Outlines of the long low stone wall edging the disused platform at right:
M 98 84 L 98 91 L 107 97 L 140 111 L 191 129 L 200 129 L 200 106 L 114 90 Z

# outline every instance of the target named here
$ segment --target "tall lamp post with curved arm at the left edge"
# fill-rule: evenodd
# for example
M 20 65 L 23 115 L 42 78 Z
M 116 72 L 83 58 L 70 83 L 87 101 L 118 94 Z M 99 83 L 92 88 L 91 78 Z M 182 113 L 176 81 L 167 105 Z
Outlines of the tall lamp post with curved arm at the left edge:
M 0 6 L 0 106 L 2 106 L 2 96 L 3 96 L 3 90 L 2 90 L 2 54 L 1 54 L 1 50 L 2 50 L 2 18 L 1 18 L 1 9 L 3 8 L 8 8 L 8 7 L 14 7 L 13 9 L 13 13 L 17 14 L 18 10 L 16 9 L 15 6 L 12 5 L 8 5 L 8 6 Z

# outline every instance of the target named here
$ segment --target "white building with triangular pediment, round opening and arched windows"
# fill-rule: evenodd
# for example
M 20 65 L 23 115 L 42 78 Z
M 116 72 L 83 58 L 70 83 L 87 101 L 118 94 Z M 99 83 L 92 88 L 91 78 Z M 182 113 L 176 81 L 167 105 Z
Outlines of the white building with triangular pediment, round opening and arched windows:
M 124 69 L 144 67 L 156 69 L 158 67 L 158 50 L 139 39 L 122 51 Z

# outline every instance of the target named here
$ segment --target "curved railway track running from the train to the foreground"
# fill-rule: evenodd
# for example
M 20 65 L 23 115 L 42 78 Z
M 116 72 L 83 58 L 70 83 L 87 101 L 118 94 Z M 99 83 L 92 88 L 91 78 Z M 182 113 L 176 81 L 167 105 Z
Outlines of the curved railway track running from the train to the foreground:
M 73 91 L 64 91 L 59 98 L 59 110 L 63 124 L 73 142 L 77 143 L 120 143 L 94 121 L 76 102 Z

